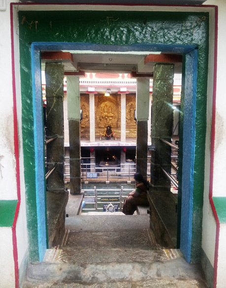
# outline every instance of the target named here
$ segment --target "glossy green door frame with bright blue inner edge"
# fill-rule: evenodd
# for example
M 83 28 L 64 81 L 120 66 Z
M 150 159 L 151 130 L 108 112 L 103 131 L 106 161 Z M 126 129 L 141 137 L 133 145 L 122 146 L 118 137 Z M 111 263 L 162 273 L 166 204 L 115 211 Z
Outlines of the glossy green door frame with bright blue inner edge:
M 193 66 L 197 75 L 195 107 L 193 106 L 195 108 L 193 119 L 195 133 L 193 143 L 191 143 L 194 148 L 194 163 L 191 170 L 193 177 L 190 177 L 190 181 L 195 185 L 192 191 L 185 191 L 185 193 L 192 193 L 190 196 L 193 198 L 193 205 L 188 211 L 190 219 L 184 220 L 189 221 L 192 234 L 190 234 L 190 243 L 185 245 L 185 252 L 183 252 L 189 262 L 196 261 L 195 255 L 198 250 L 201 250 L 198 237 L 201 235 L 201 226 L 193 221 L 198 219 L 200 223 L 202 219 L 209 14 L 206 12 L 70 10 L 19 11 L 18 17 L 22 136 L 30 260 L 42 260 L 47 247 L 46 208 L 43 207 L 45 206 L 45 181 L 40 51 L 95 50 L 108 53 L 114 51 L 178 52 L 184 53 L 184 56 L 191 51 L 197 51 L 196 60 L 194 60 L 197 66 L 196 68 Z M 191 69 L 189 73 L 193 71 Z M 191 89 L 194 91 L 194 87 Z M 184 97 L 187 98 L 187 95 L 188 91 L 185 89 Z M 182 122 L 183 112 L 182 110 Z M 181 140 L 183 137 L 184 134 Z M 182 144 L 180 143 L 181 147 Z M 42 155 L 41 158 L 40 155 Z M 180 155 L 180 165 L 182 163 L 185 164 L 183 153 Z M 182 171 L 180 173 L 182 175 Z M 181 191 L 183 176 L 180 179 L 179 192 L 182 192 L 182 206 L 186 207 L 187 198 L 183 200 L 184 191 Z M 44 238 L 43 234 L 45 234 Z

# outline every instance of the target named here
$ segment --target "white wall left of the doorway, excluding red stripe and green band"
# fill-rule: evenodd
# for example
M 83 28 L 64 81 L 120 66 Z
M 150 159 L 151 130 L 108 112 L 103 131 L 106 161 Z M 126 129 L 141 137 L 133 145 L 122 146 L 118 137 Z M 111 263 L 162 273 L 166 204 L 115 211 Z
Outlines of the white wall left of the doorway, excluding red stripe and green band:
M 0 3 L 5 3 L 5 0 Z M 16 1 L 15 1 L 16 2 Z M 14 127 L 13 127 L 13 87 L 12 87 L 12 58 L 11 58 L 11 23 L 10 1 L 5 3 L 6 9 L 0 7 L 0 199 L 18 199 L 16 183 L 16 160 L 14 155 Z M 18 27 L 17 17 L 14 27 Z M 20 194 L 21 204 L 16 223 L 18 265 L 27 257 L 27 221 L 25 206 L 24 165 L 21 131 L 21 97 L 19 79 L 19 39 L 18 31 L 14 31 L 15 74 L 17 91 L 17 122 L 19 137 L 19 165 L 20 165 Z M 0 287 L 15 287 L 14 259 L 12 249 L 11 228 L 0 227 Z M 6 265 L 7 264 L 7 265 Z M 5 267 L 10 274 L 4 272 Z M 2 270 L 3 269 L 3 270 Z M 6 284 L 2 277 L 5 275 Z M 3 285 L 3 286 L 2 286 Z

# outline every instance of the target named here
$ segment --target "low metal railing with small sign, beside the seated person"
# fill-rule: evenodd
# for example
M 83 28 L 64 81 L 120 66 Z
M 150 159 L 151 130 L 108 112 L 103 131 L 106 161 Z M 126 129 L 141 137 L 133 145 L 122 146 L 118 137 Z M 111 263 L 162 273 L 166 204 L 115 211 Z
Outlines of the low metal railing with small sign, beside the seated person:
M 128 192 L 131 192 L 133 189 L 124 189 L 123 186 L 121 187 L 121 189 L 97 189 L 97 187 L 95 186 L 94 189 L 83 189 L 82 193 L 84 193 L 84 201 L 86 202 L 86 204 L 91 204 L 94 205 L 94 208 L 82 208 L 82 210 L 84 211 L 98 211 L 98 210 L 103 210 L 103 207 L 98 207 L 98 204 L 119 204 L 118 209 L 120 211 L 122 211 L 123 208 L 123 201 L 124 199 L 128 196 Z M 94 195 L 92 196 L 87 196 L 86 192 L 94 192 Z M 119 192 L 119 196 L 118 195 L 103 195 L 103 194 L 98 194 L 98 192 Z M 127 192 L 126 195 L 124 195 L 123 193 Z M 103 198 L 104 200 L 101 201 L 101 198 Z M 113 198 L 118 198 L 115 201 L 110 201 Z M 87 199 L 87 201 L 86 201 Z M 109 199 L 109 201 L 105 201 L 105 199 Z M 100 200 L 100 201 L 99 201 Z M 118 201 L 117 201 L 118 200 Z

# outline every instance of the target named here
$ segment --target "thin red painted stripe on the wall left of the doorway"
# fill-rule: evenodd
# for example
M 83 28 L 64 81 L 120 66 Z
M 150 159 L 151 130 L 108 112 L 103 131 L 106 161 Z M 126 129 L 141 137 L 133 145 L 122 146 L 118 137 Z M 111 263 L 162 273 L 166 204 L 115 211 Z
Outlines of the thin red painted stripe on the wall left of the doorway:
M 13 38 L 13 5 L 10 4 L 10 25 L 11 25 L 11 55 L 12 55 L 12 89 L 13 89 L 13 128 L 14 128 L 14 154 L 16 159 L 16 183 L 17 183 L 17 206 L 12 226 L 12 244 L 13 258 L 15 269 L 15 288 L 19 288 L 19 267 L 18 267 L 18 251 L 16 238 L 16 223 L 20 210 L 20 166 L 19 166 L 19 143 L 18 143 L 18 128 L 17 128 L 17 110 L 16 110 L 16 82 L 15 82 L 15 60 L 14 60 L 14 38 Z

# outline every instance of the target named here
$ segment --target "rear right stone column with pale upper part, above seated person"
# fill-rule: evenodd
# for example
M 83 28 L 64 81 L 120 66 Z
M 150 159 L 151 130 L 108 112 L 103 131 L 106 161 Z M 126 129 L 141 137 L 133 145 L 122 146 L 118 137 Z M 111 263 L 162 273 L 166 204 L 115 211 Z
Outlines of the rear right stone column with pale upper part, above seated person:
M 136 80 L 136 171 L 147 177 L 148 117 L 149 117 L 150 79 Z

